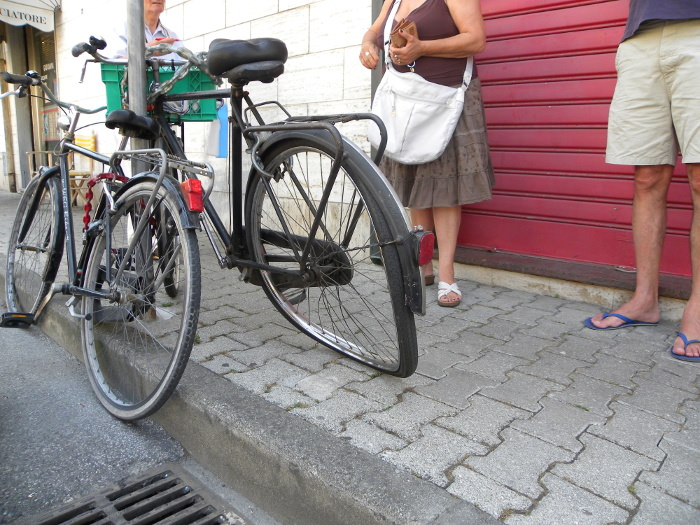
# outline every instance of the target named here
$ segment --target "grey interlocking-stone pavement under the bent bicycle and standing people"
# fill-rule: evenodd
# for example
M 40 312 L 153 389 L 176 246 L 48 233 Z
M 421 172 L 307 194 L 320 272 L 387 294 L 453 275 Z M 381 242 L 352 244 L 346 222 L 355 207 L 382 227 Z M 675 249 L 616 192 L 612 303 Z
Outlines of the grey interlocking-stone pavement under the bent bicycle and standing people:
M 3 253 L 16 201 L 0 192 Z M 506 524 L 700 523 L 700 365 L 668 355 L 675 323 L 598 332 L 598 306 L 460 280 L 457 308 L 428 289 L 418 370 L 397 379 L 202 253 L 191 359 L 232 383 Z

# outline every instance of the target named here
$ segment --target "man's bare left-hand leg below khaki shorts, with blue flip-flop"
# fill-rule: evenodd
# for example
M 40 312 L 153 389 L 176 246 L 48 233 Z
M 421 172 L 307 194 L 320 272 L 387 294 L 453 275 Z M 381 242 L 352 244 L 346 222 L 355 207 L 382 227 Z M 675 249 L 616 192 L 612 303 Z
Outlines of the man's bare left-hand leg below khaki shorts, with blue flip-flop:
M 615 313 L 630 319 L 657 322 L 661 317 L 659 267 L 666 232 L 666 196 L 672 175 L 673 166 L 669 165 L 635 168 L 632 233 L 637 282 L 632 298 L 615 310 Z M 623 323 L 617 317 L 603 319 L 603 314 L 596 315 L 591 322 L 599 328 Z

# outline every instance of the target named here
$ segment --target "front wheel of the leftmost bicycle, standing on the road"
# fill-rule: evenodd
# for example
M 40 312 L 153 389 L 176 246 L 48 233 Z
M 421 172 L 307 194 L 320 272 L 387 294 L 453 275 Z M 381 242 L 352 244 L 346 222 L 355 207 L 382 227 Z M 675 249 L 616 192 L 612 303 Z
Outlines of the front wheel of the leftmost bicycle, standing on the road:
M 34 314 L 49 293 L 63 257 L 62 210 L 57 177 L 38 176 L 29 182 L 7 250 L 5 299 L 10 311 Z

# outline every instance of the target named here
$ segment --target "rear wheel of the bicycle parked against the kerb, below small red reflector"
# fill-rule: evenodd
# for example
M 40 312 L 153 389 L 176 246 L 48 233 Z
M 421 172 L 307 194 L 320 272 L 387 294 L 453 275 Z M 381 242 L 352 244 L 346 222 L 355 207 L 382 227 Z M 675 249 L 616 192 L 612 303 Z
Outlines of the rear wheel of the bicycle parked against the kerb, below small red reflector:
M 112 300 L 83 298 L 81 332 L 92 388 L 107 411 L 122 420 L 144 418 L 167 401 L 185 370 L 197 330 L 199 247 L 194 230 L 183 225 L 180 201 L 169 185 L 159 188 L 149 225 L 137 236 L 136 224 L 154 187 L 153 179 L 142 180 L 118 195 L 116 212 L 108 219 L 109 254 L 105 229 L 91 240 L 83 280 L 90 290 L 119 292 Z M 160 217 L 172 219 L 178 242 L 168 246 L 176 246 L 181 257 L 163 253 Z M 130 243 L 134 250 L 127 259 Z M 181 268 L 169 272 L 169 262 Z M 124 271 L 117 276 L 120 265 Z M 165 290 L 167 273 L 180 278 L 175 298 Z

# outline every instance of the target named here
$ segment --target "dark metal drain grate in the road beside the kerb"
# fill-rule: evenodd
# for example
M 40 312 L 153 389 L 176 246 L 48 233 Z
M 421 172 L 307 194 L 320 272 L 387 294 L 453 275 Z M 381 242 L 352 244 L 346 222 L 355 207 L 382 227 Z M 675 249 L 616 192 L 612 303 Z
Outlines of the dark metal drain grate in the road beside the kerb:
M 26 525 L 245 525 L 234 513 L 221 513 L 204 490 L 172 468 L 34 516 Z M 19 525 L 19 524 L 18 524 Z

